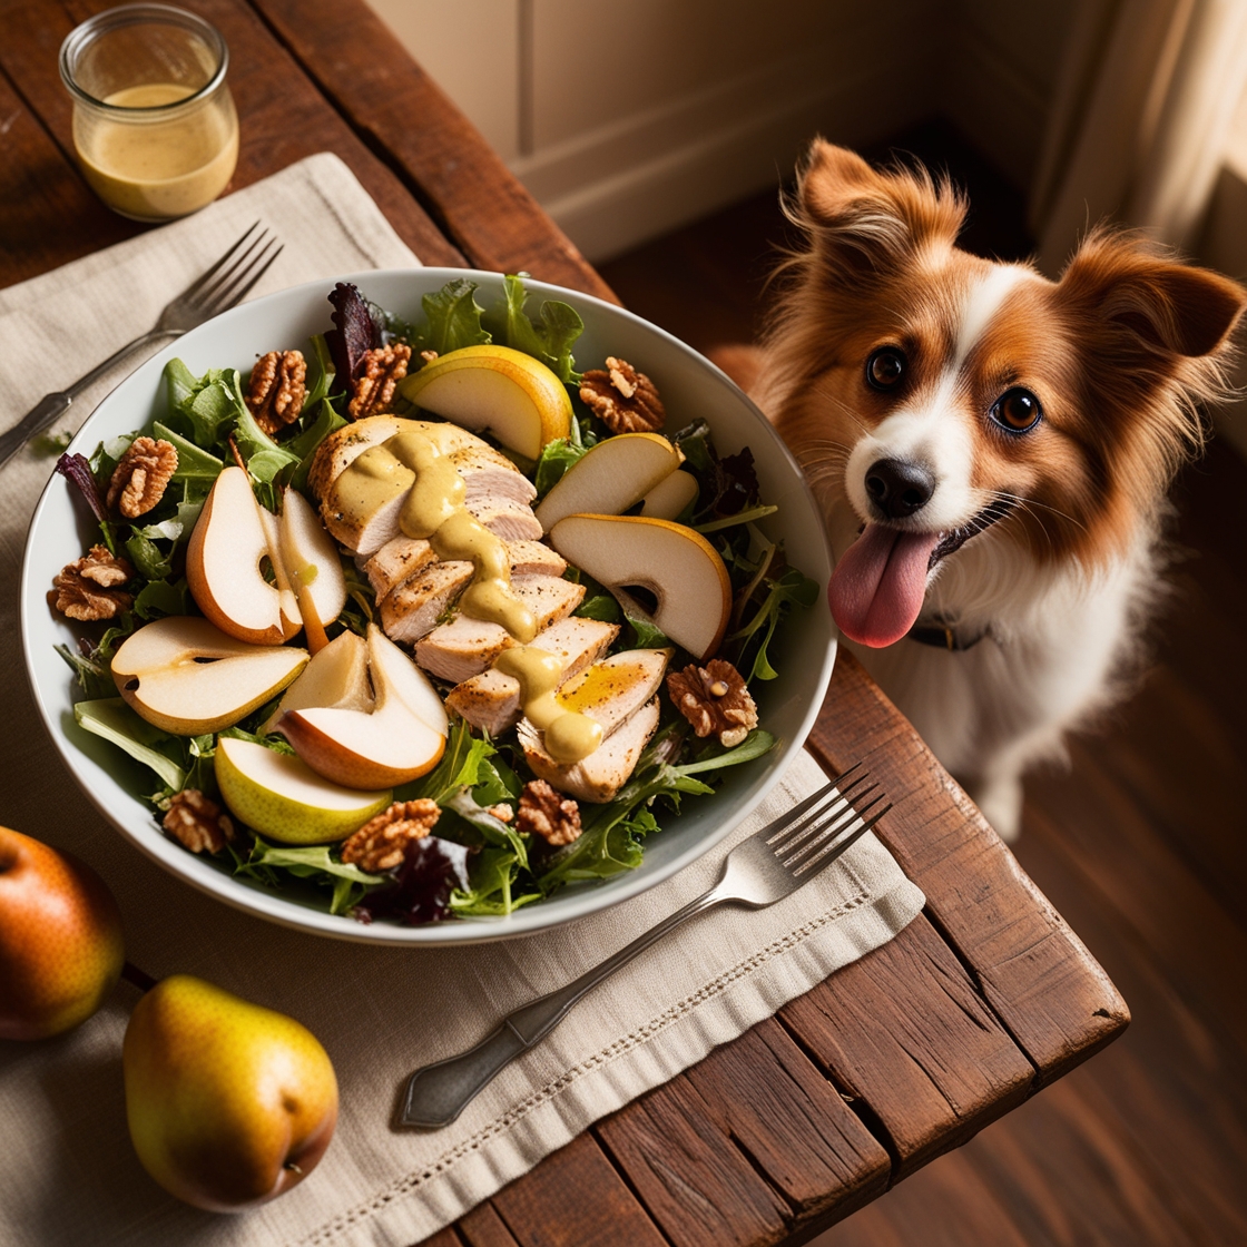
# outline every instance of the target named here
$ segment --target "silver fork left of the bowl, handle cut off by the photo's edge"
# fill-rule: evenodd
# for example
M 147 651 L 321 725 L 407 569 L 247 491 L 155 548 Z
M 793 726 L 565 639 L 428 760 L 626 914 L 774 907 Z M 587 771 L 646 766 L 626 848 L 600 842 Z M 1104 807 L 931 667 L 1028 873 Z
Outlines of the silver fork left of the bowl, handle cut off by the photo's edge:
M 187 329 L 193 329 L 241 303 L 256 282 L 268 272 L 269 264 L 282 253 L 282 243 L 267 228 L 257 234 L 259 222 L 256 221 L 202 277 L 172 299 L 161 312 L 153 329 L 126 343 L 121 350 L 79 378 L 69 389 L 45 394 L 17 424 L 0 435 L 0 466 L 4 466 L 40 429 L 47 428 L 52 420 L 67 412 L 79 394 L 127 355 L 150 342 L 177 338 Z

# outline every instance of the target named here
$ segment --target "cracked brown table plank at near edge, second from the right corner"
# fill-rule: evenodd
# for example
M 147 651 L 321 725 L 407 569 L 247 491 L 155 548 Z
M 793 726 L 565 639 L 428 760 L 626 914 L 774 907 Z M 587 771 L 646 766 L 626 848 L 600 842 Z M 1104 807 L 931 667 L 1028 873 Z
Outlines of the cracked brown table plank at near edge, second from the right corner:
M 893 1181 L 964 1143 L 1033 1085 L 1030 1062 L 923 917 L 779 1016 L 884 1132 Z

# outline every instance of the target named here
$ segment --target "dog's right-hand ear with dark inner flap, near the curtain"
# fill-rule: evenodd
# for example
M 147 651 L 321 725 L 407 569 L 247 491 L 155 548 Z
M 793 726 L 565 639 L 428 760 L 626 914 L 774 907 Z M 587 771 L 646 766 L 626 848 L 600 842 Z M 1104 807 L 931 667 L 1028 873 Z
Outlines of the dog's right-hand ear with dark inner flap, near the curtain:
M 1092 232 L 1061 274 L 1071 309 L 1150 354 L 1196 359 L 1230 347 L 1247 292 L 1228 277 L 1161 254 L 1145 239 Z

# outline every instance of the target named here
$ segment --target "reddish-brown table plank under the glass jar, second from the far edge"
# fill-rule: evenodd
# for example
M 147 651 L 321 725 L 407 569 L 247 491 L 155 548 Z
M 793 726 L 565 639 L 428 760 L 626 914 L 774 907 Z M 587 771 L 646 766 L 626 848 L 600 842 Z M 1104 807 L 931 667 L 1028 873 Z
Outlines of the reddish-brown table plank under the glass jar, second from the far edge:
M 77 22 L 105 7 L 105 0 L 0 0 L 0 67 L 69 158 L 74 152 L 72 110 L 56 74 L 56 54 Z M 244 0 L 197 0 L 193 7 L 221 30 L 229 45 L 229 87 L 242 121 L 238 168 L 229 190 L 248 186 L 304 156 L 332 151 L 347 162 L 398 234 L 425 263 L 464 263 L 399 178 L 368 151 Z M 94 212 L 80 211 L 75 222 L 92 222 L 89 238 L 106 229 L 94 223 L 96 217 L 118 229 L 117 237 L 143 228 L 126 222 L 117 227 L 113 222 L 120 218 L 95 201 Z M 104 244 L 84 251 L 59 231 L 57 238 L 65 242 L 65 251 L 60 256 L 55 248 L 42 253 L 49 268 Z

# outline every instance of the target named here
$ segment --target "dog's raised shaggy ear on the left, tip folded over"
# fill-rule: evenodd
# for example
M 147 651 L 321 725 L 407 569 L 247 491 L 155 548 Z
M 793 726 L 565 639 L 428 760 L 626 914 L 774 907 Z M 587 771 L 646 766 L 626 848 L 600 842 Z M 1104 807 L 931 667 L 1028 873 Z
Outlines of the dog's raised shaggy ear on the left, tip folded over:
M 930 243 L 951 247 L 965 203 L 923 168 L 878 171 L 816 138 L 798 175 L 796 218 L 847 278 L 895 268 Z

